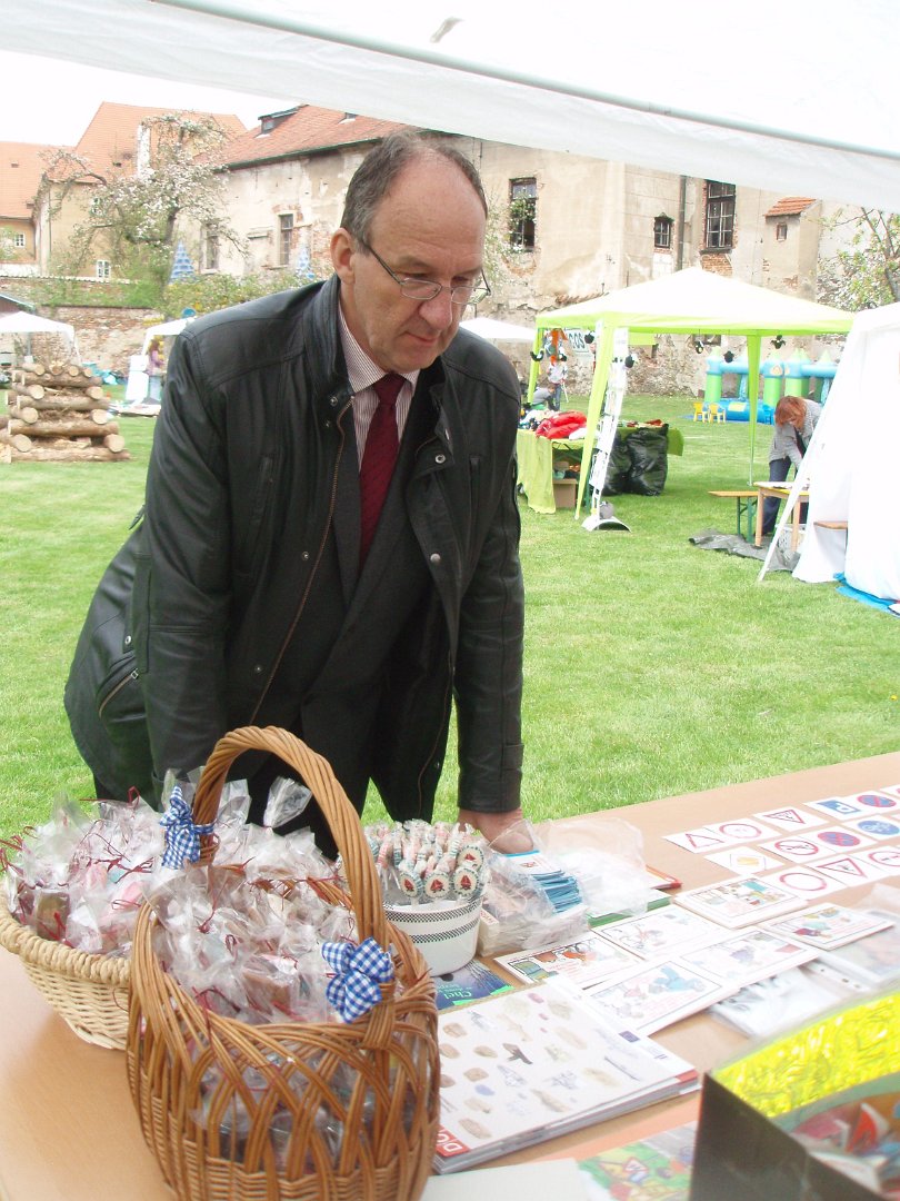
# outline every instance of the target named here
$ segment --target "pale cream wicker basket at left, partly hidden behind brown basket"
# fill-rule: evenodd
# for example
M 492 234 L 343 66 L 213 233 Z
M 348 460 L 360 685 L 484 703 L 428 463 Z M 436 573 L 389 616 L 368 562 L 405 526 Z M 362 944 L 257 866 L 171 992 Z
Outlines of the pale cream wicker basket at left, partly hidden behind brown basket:
M 13 918 L 2 890 L 0 946 L 19 956 L 31 982 L 80 1039 L 116 1051 L 125 1048 L 128 960 L 76 951 L 41 938 Z

